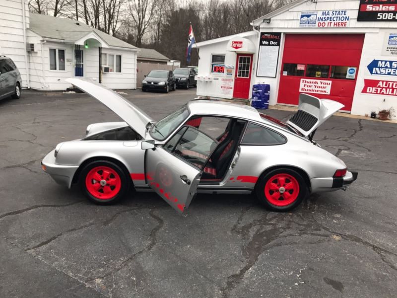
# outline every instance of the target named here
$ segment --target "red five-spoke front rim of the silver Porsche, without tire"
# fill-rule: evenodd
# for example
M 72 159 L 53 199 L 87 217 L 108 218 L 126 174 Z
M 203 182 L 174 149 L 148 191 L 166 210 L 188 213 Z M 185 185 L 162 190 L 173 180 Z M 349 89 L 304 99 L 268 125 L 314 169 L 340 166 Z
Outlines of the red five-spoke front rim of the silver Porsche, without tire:
M 85 186 L 93 197 L 109 200 L 119 193 L 121 179 L 114 169 L 107 166 L 96 166 L 85 177 Z

